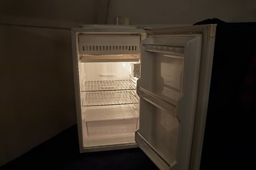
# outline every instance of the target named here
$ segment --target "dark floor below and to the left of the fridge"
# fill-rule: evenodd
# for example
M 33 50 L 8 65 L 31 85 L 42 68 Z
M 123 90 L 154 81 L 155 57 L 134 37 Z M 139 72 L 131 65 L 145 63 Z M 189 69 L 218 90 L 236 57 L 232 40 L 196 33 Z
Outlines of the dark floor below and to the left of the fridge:
M 0 167 L 12 169 L 158 169 L 139 148 L 79 153 L 76 125 Z

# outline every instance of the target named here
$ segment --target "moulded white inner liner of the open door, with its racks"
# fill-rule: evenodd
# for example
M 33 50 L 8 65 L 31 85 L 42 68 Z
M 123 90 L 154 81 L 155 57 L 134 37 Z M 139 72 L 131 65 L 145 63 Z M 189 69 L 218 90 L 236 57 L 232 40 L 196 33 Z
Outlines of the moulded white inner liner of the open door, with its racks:
M 142 42 L 135 140 L 159 169 L 188 169 L 201 44 L 200 34 L 151 35 Z

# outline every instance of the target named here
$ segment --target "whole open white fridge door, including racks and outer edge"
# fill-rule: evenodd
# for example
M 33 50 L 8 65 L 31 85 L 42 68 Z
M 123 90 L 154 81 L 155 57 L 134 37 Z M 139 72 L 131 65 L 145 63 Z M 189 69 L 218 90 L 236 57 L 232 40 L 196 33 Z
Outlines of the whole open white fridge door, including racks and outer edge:
M 151 30 L 142 41 L 139 147 L 159 169 L 197 169 L 214 26 Z M 207 64 L 207 65 L 206 65 Z M 206 66 L 206 67 L 205 67 Z

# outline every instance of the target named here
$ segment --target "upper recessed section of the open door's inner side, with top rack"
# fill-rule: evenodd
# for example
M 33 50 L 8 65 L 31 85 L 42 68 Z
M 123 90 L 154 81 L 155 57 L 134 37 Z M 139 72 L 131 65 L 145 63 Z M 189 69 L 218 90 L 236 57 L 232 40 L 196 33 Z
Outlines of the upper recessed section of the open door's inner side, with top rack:
M 146 56 L 142 59 L 142 74 L 151 76 L 142 77 L 141 86 L 164 100 L 177 101 L 182 93 L 184 47 L 144 45 L 142 56 Z

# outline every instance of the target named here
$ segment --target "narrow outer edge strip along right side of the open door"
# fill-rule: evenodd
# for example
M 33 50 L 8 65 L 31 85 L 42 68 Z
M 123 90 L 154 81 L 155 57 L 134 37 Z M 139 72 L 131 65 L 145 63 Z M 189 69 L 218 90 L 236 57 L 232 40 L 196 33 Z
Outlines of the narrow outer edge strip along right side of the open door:
M 193 143 L 191 148 L 191 161 L 189 169 L 200 169 L 201 153 L 203 149 L 203 137 L 206 126 L 206 116 L 208 111 L 208 98 L 210 91 L 210 81 L 213 67 L 213 54 L 215 44 L 215 26 L 206 29 L 203 36 L 201 50 L 200 73 L 198 79 L 198 98 L 196 101 L 196 115 L 193 128 Z

